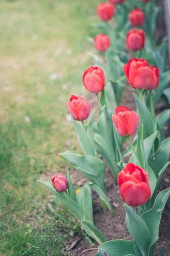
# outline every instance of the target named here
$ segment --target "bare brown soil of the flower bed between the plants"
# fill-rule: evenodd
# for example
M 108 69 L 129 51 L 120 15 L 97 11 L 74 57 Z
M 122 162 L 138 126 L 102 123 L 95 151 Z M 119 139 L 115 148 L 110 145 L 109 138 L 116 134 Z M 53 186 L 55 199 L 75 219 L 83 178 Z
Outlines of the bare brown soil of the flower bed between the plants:
M 161 9 L 163 10 L 163 3 L 161 0 L 159 0 L 159 6 L 161 6 Z M 164 14 L 162 13 L 159 17 L 158 21 L 158 29 L 157 33 L 162 38 L 165 35 L 165 26 L 164 26 Z M 124 96 L 122 97 L 121 105 L 125 105 L 131 110 L 136 111 L 136 104 L 134 102 L 134 99 L 132 97 L 132 91 L 133 89 L 127 84 Z M 89 99 L 89 102 L 94 105 L 92 107 L 95 107 L 95 101 L 93 98 Z M 159 103 L 156 106 L 156 114 L 160 113 L 164 110 L 164 106 Z M 166 133 L 166 132 L 165 132 Z M 167 135 L 167 134 L 165 134 Z M 74 182 L 77 183 L 79 180 L 82 180 L 84 177 L 81 173 L 77 172 L 76 170 L 72 173 L 72 178 L 74 179 Z M 105 213 L 102 211 L 102 207 L 99 203 L 99 198 L 94 193 L 94 197 L 96 197 L 96 200 L 94 201 L 94 224 L 96 227 L 101 230 L 101 232 L 104 234 L 105 238 L 107 240 L 113 240 L 113 239 L 132 239 L 127 231 L 126 225 L 125 225 L 125 209 L 123 207 L 124 202 L 122 201 L 122 198 L 119 193 L 119 187 L 117 184 L 117 181 L 114 179 L 111 171 L 106 168 L 106 174 L 105 174 L 105 186 L 107 189 L 107 196 L 111 202 L 111 205 L 114 210 L 114 218 L 111 216 L 110 211 L 106 211 Z M 166 189 L 170 186 L 170 168 L 167 169 L 166 173 L 164 174 L 159 189 Z M 157 242 L 157 247 L 161 247 L 164 251 L 164 256 L 170 255 L 170 218 L 169 218 L 169 212 L 170 212 L 170 199 L 166 204 L 166 207 L 164 209 L 162 218 L 161 218 L 161 224 L 159 229 L 159 240 Z M 67 247 L 71 245 L 71 243 L 76 240 L 74 237 L 72 240 L 70 240 L 67 244 Z M 90 249 L 90 248 L 96 248 L 98 244 L 94 241 L 94 245 L 90 245 L 88 242 L 86 242 L 84 239 L 81 239 L 79 243 L 74 247 L 73 250 L 71 250 L 71 256 L 79 256 L 84 250 Z M 94 254 L 97 253 L 96 250 L 88 250 L 87 252 L 83 253 L 83 256 L 94 256 Z M 158 256 L 158 251 L 155 251 L 154 256 Z

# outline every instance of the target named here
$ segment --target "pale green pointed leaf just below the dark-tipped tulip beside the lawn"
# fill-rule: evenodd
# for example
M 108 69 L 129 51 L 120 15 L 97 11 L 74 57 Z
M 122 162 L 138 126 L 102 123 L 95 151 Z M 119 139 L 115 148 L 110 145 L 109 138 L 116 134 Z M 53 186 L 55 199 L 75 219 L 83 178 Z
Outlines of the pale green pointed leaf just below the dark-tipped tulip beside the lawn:
M 74 124 L 74 127 L 76 129 L 77 132 L 77 138 L 79 141 L 79 145 L 82 148 L 82 151 L 85 154 L 89 154 L 92 156 L 95 156 L 96 152 L 95 152 L 95 148 L 94 145 L 90 139 L 90 137 L 88 136 L 88 133 L 84 130 L 84 128 L 82 126 L 80 126 L 76 120 L 74 120 L 74 118 L 71 116 L 72 122 Z

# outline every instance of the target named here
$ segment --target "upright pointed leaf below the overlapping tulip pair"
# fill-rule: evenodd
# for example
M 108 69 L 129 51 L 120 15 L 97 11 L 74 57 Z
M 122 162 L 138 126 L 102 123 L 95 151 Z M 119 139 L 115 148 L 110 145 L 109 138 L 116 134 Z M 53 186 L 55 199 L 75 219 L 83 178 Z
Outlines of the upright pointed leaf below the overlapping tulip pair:
M 139 126 L 137 131 L 139 133 L 139 127 L 143 124 L 143 137 L 146 139 L 156 131 L 156 120 L 153 119 L 150 111 L 140 101 L 135 93 L 133 93 L 133 96 L 136 101 L 137 113 L 139 116 Z

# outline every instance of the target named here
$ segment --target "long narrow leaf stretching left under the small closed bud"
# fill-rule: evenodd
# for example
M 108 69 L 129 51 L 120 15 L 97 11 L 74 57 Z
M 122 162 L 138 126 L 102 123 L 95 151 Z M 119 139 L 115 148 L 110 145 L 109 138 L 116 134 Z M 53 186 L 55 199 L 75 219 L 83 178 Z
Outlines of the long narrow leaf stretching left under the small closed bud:
M 79 219 L 83 219 L 84 210 L 79 204 L 69 198 L 67 195 L 63 194 L 63 192 L 57 192 L 54 189 L 54 186 L 49 181 L 40 181 L 39 182 L 44 185 L 47 189 L 49 189 L 55 196 L 57 196 L 58 201 L 67 209 L 70 209 Z

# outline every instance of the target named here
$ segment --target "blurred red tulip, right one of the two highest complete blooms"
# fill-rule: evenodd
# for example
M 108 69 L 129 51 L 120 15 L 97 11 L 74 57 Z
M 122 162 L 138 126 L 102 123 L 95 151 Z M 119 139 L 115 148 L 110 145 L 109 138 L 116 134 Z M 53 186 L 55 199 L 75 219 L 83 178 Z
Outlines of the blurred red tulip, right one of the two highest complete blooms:
M 132 26 L 142 26 L 144 23 L 144 12 L 141 9 L 133 9 L 128 15 L 128 20 Z

